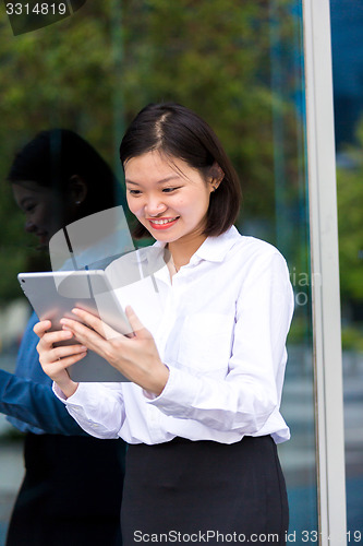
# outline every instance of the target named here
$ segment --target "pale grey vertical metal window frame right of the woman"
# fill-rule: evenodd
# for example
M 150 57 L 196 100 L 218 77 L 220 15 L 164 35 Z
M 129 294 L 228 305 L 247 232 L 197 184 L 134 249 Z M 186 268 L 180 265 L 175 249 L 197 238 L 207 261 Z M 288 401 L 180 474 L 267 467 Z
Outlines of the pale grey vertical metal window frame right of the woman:
M 317 429 L 318 537 L 347 544 L 336 153 L 329 0 L 303 0 Z M 319 282 L 316 282 L 319 280 Z

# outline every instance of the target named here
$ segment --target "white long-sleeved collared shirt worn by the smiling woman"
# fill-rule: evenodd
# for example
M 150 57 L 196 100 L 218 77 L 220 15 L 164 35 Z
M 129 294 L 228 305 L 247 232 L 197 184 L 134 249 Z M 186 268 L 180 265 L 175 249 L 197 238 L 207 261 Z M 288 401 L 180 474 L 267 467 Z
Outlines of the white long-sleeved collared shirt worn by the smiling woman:
M 164 254 L 164 245 L 150 248 L 153 259 Z M 69 413 L 90 435 L 129 443 L 176 436 L 222 443 L 244 435 L 289 439 L 279 406 L 293 293 L 279 251 L 231 227 L 208 237 L 172 281 L 167 265 L 154 271 L 124 286 L 122 258 L 106 270 L 170 370 L 164 391 L 155 396 L 134 383 L 80 383 L 65 401 L 56 385 Z

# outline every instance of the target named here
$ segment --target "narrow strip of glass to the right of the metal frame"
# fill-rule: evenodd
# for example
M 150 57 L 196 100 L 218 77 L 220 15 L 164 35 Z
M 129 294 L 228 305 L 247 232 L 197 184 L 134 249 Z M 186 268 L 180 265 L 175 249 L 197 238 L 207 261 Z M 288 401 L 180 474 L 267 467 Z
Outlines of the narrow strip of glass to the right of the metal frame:
M 363 521 L 363 7 L 330 0 L 337 151 L 347 523 Z

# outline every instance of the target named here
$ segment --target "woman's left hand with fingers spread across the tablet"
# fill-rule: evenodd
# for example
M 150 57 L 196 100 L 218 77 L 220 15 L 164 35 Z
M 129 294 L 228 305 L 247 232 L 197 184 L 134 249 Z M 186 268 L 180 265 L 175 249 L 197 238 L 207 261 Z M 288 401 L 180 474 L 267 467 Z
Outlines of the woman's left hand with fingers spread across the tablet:
M 72 312 L 87 325 L 76 320 L 62 319 L 63 330 L 70 330 L 82 345 L 100 355 L 130 381 L 156 395 L 161 393 L 168 381 L 169 370 L 160 360 L 153 335 L 130 306 L 125 312 L 134 332 L 133 337 L 116 332 L 98 317 L 83 309 L 72 309 Z M 105 339 L 105 332 L 108 339 Z

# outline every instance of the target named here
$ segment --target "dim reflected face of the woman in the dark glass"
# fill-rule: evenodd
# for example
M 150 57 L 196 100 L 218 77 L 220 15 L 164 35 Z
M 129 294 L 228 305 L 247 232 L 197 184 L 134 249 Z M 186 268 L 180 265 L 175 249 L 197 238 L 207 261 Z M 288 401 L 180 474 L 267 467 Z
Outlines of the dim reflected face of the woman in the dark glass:
M 39 239 L 40 247 L 48 247 L 49 240 L 61 227 L 59 199 L 51 188 L 34 181 L 13 182 L 16 204 L 25 214 L 25 230 Z

